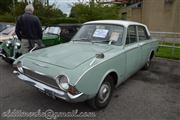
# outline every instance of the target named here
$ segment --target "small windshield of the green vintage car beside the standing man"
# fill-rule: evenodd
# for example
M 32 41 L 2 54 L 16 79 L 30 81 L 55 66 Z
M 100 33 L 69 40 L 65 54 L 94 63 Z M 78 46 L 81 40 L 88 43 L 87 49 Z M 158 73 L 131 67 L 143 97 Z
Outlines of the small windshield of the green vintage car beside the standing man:
M 60 34 L 61 32 L 61 29 L 60 27 L 47 27 L 45 30 L 44 30 L 44 33 L 45 34 Z

